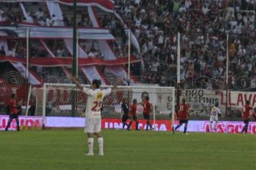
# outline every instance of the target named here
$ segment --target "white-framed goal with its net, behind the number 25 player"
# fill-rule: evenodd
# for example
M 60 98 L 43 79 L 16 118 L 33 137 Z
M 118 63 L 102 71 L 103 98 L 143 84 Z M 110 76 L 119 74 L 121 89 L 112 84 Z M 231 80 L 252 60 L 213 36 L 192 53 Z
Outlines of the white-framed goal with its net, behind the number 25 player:
M 84 87 L 89 88 L 87 85 Z M 100 88 L 111 86 L 101 85 Z M 29 100 L 35 103 L 34 116 L 42 117 L 42 126 L 58 127 L 54 123 L 63 124 L 63 127 L 82 127 L 80 122 L 72 123 L 67 117 L 85 117 L 87 95 L 73 84 L 44 83 L 43 88 L 31 88 Z M 123 98 L 127 98 L 129 104 L 133 99 L 139 102 L 149 96 L 149 102 L 153 104 L 150 121 L 156 120 L 174 121 L 175 88 L 158 86 L 118 86 L 110 95 L 103 99 L 101 114 L 103 119 L 120 119 L 121 104 Z M 139 120 L 143 119 L 143 106 L 138 104 L 137 114 Z M 51 117 L 51 119 L 50 119 Z M 66 118 L 66 119 L 65 119 Z M 73 119 L 76 121 L 78 119 Z M 85 121 L 83 120 L 82 123 Z M 61 126 L 61 125 L 60 125 Z M 83 125 L 84 126 L 84 125 Z

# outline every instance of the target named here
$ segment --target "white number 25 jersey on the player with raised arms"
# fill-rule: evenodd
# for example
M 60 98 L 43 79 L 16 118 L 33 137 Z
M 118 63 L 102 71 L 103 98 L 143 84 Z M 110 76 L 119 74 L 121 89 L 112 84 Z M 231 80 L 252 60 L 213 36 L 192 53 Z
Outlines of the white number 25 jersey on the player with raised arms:
M 87 94 L 86 117 L 87 118 L 100 118 L 100 111 L 102 107 L 103 98 L 111 93 L 111 88 L 107 89 L 90 89 L 84 88 Z

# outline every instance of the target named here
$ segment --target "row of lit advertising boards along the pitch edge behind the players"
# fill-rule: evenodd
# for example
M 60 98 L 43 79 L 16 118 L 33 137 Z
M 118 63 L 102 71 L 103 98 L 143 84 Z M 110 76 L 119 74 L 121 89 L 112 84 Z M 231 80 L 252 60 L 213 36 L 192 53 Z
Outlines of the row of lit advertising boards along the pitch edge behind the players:
M 19 117 L 20 125 L 27 127 L 42 127 L 42 117 Z M 0 130 L 5 130 L 8 123 L 8 116 L 0 116 Z M 153 121 L 151 122 L 153 123 Z M 175 124 L 179 122 L 176 121 Z M 208 128 L 208 121 L 190 120 L 188 124 L 188 132 L 206 132 Z M 103 119 L 103 129 L 116 129 L 120 130 L 123 127 L 121 119 Z M 45 127 L 67 128 L 67 127 L 84 127 L 84 117 L 46 117 Z M 175 125 L 176 126 L 176 125 Z M 220 121 L 217 126 L 217 133 L 240 133 L 245 124 L 241 121 Z M 171 120 L 156 120 L 153 124 L 155 131 L 169 131 L 172 130 Z M 135 123 L 133 123 L 132 129 L 135 129 Z M 9 130 L 15 130 L 15 120 L 12 121 Z M 139 129 L 146 130 L 146 121 L 139 120 Z M 179 128 L 179 131 L 183 131 L 183 127 Z M 210 131 L 214 131 L 210 129 Z M 248 127 L 248 133 L 256 134 L 256 122 L 250 122 Z

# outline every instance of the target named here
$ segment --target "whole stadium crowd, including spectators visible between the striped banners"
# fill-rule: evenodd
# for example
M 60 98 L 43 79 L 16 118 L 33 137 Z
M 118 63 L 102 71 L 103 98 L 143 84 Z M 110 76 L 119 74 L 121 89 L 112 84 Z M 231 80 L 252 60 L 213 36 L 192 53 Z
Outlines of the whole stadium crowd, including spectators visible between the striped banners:
M 255 2 L 253 0 L 115 0 L 116 12 L 124 24 L 107 14 L 100 16 L 102 27 L 108 27 L 117 41 L 112 42 L 117 57 L 127 55 L 127 37 L 123 26 L 136 36 L 140 54 L 132 48 L 132 54 L 143 59 L 144 69 L 132 65 L 132 73 L 142 76 L 144 83 L 176 85 L 177 32 L 181 34 L 182 88 L 223 88 L 225 85 L 227 35 L 229 56 L 229 85 L 231 88 L 256 88 L 256 37 Z M 8 3 L 9 4 L 9 3 Z M 17 6 L 17 5 L 16 5 Z M 6 6 L 7 7 L 7 6 Z M 67 14 L 68 15 L 68 14 Z M 64 12 L 65 26 L 71 26 L 73 18 Z M 32 19 L 30 19 L 32 18 Z M 57 18 L 42 8 L 28 12 L 3 11 L 0 22 L 15 24 L 18 21 L 34 21 L 41 26 L 57 26 Z M 91 27 L 87 14 L 80 14 L 80 27 Z M 56 56 L 69 53 L 64 44 L 54 47 Z M 95 42 L 80 42 L 88 56 L 102 59 Z M 16 56 L 24 57 L 25 48 L 17 46 Z M 1 47 L 0 53 L 6 50 Z M 39 49 L 38 49 L 39 48 Z M 34 47 L 38 55 L 40 47 Z M 18 50 L 18 52 L 17 52 Z M 33 48 L 31 48 L 33 50 Z M 33 53 L 33 52 L 31 52 Z M 45 52 L 44 52 L 45 53 Z M 143 74 L 143 75 L 141 75 Z M 203 76 L 203 77 L 202 77 Z M 247 79 L 241 79 L 245 77 Z M 197 80 L 199 83 L 192 83 Z

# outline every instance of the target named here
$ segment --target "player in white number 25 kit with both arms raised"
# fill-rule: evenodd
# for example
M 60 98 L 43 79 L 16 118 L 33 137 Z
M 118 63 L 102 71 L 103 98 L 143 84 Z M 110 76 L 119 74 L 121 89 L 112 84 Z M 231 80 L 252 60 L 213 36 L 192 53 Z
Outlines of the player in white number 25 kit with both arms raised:
M 99 156 L 103 156 L 103 136 L 101 134 L 101 107 L 103 98 L 109 95 L 113 88 L 117 85 L 113 85 L 112 88 L 100 89 L 100 80 L 94 79 L 90 88 L 84 88 L 77 82 L 77 79 L 71 77 L 71 80 L 77 85 L 77 88 L 84 91 L 87 94 L 87 106 L 86 106 L 86 122 L 84 132 L 87 133 L 88 148 L 89 151 L 86 156 L 94 156 L 94 134 L 97 136 L 99 144 Z

